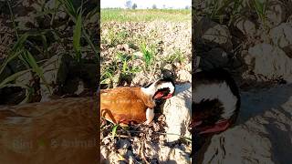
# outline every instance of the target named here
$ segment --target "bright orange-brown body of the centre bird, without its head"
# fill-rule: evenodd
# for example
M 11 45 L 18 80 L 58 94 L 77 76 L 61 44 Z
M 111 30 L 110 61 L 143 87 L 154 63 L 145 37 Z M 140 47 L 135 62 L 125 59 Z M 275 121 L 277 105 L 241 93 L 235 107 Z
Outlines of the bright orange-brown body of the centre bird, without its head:
M 100 91 L 100 116 L 115 124 L 142 123 L 146 110 L 154 108 L 152 97 L 141 87 L 117 87 Z

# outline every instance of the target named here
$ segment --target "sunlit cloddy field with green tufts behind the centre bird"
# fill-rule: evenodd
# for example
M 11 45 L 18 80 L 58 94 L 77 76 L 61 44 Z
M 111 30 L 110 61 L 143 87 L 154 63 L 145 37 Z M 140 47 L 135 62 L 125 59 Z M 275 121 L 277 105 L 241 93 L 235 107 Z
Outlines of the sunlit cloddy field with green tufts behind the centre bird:
M 101 10 L 101 87 L 145 85 L 191 71 L 191 10 Z

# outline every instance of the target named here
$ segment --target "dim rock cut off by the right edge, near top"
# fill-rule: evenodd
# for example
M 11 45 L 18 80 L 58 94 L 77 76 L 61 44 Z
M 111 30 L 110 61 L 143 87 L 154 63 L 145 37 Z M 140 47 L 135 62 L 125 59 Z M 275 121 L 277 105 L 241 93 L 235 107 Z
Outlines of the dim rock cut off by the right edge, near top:
M 283 48 L 292 58 L 292 23 L 282 23 L 271 29 L 270 36 L 274 45 Z

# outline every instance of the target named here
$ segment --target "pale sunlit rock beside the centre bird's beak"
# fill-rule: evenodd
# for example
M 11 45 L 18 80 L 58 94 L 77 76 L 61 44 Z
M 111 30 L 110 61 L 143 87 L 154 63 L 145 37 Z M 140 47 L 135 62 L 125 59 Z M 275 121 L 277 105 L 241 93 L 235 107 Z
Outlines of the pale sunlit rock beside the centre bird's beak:
M 192 85 L 185 83 L 175 87 L 175 96 L 166 100 L 162 110 L 167 124 L 167 140 L 172 142 L 180 138 L 178 135 L 190 138 L 187 130 L 191 121 Z M 171 135 L 176 134 L 176 135 Z

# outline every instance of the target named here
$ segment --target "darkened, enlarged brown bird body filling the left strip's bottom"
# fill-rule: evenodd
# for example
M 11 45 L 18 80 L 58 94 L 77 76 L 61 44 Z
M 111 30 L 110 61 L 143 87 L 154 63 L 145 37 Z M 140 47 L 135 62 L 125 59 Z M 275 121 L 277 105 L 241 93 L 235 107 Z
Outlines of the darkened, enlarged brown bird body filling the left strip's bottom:
M 0 106 L 0 163 L 99 163 L 96 97 Z

